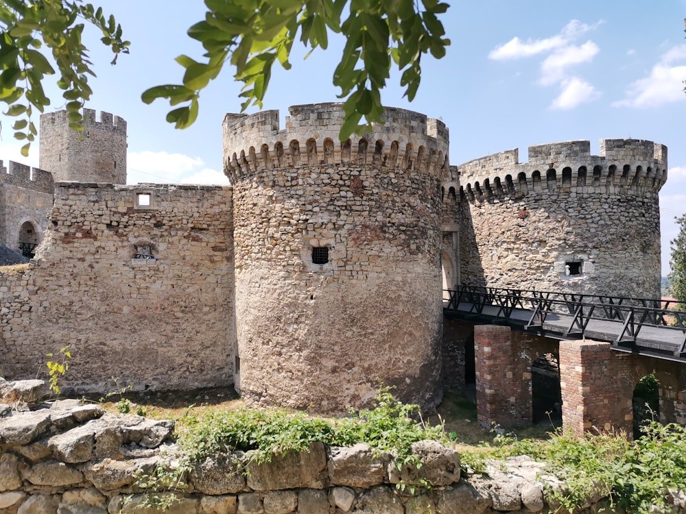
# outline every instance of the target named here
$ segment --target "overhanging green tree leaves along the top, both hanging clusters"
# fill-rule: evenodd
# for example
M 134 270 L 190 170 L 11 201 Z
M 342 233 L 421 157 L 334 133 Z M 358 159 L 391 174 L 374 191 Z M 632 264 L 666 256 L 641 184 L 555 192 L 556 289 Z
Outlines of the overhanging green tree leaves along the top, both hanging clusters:
M 200 92 L 225 64 L 244 84 L 242 109 L 261 107 L 272 65 L 279 62 L 289 69 L 297 39 L 314 51 L 326 49 L 329 35 L 340 33 L 346 44 L 333 84 L 345 99 L 346 121 L 340 134 L 344 140 L 381 121 L 380 91 L 393 64 L 403 72 L 401 86 L 412 100 L 421 79 L 422 56 L 442 58 L 450 44 L 438 19 L 448 5 L 439 0 L 205 0 L 205 5 L 205 19 L 188 31 L 204 47 L 202 62 L 179 56 L 176 61 L 185 70 L 181 84 L 156 86 L 142 97 L 146 103 L 168 99 L 175 108 L 167 121 L 177 128 L 196 120 Z M 36 136 L 34 110 L 43 112 L 50 104 L 43 79 L 56 73 L 44 46 L 56 63 L 57 84 L 64 90 L 72 127 L 82 128 L 82 107 L 92 93 L 88 75 L 94 75 L 82 44 L 86 24 L 102 31 L 102 43 L 114 53 L 113 63 L 119 53 L 128 53 L 130 43 L 123 40 L 115 18 L 104 16 L 102 8 L 91 3 L 0 1 L 0 101 L 8 106 L 6 114 L 18 118 L 14 136 L 27 140 L 24 155 Z

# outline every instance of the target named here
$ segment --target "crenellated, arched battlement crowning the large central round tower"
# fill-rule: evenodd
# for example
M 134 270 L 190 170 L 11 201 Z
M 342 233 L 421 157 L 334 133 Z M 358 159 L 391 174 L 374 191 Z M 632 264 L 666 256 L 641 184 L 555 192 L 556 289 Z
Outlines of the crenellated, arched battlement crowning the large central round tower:
M 226 114 L 224 173 L 232 184 L 264 169 L 327 164 L 373 164 L 442 176 L 448 169 L 448 129 L 424 114 L 385 108 L 384 125 L 340 142 L 342 103 L 289 108 L 279 130 L 279 111 Z

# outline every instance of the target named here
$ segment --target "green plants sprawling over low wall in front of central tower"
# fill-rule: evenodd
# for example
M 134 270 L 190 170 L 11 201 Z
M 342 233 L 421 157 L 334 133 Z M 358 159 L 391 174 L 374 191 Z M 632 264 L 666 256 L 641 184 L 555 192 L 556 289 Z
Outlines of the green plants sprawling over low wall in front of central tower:
M 343 419 L 323 419 L 276 408 L 240 408 L 199 417 L 187 414 L 186 430 L 178 440 L 180 455 L 172 459 L 173 465 L 160 465 L 150 476 L 137 474 L 137 485 L 152 491 L 183 491 L 185 474 L 207 456 L 252 450 L 244 461 L 247 465 L 271 461 L 276 455 L 306 451 L 314 442 L 329 446 L 367 443 L 379 455 L 393 454 L 399 469 L 403 465 L 421 467 L 418 456 L 411 452 L 412 443 L 423 439 L 445 441 L 445 435 L 442 426 L 425 426 L 412 419 L 417 414 L 418 406 L 397 401 L 388 388 L 377 394 L 375 408 L 351 412 L 350 417 Z M 174 495 L 151 494 L 145 505 L 165 508 L 174 500 Z

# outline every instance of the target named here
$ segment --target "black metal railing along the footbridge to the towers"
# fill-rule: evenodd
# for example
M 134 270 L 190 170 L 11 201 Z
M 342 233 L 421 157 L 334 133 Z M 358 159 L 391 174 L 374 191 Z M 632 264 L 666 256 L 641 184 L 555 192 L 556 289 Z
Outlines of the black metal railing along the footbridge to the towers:
M 674 355 L 686 356 L 685 302 L 480 286 L 459 286 L 445 292 L 448 295 L 448 310 L 506 320 L 512 319 L 516 309 L 527 310 L 531 314 L 525 323 L 525 330 L 543 330 L 543 324 L 552 315 L 555 315 L 556 321 L 567 323 L 563 330 L 565 336 L 585 336 L 593 320 L 616 321 L 622 323 L 622 330 L 611 341 L 614 345 L 628 344 L 633 347 L 641 328 L 646 326 L 678 330 L 681 339 L 674 349 Z M 497 310 L 494 313 L 490 309 L 490 314 L 485 314 L 486 306 Z

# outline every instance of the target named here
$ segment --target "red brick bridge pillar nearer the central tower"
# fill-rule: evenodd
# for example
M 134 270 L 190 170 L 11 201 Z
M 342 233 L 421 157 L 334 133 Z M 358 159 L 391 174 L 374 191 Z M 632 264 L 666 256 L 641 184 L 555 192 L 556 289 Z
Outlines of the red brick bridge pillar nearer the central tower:
M 481 426 L 532 423 L 531 370 L 509 327 L 474 327 L 477 419 Z

